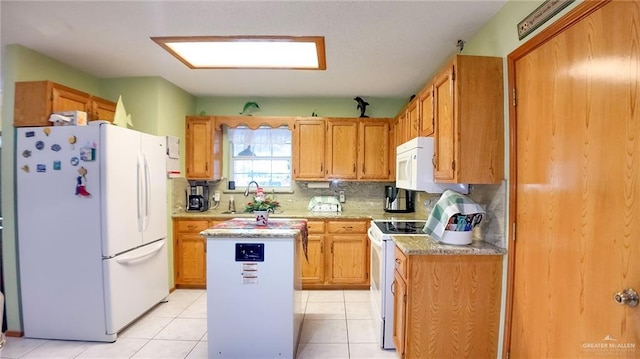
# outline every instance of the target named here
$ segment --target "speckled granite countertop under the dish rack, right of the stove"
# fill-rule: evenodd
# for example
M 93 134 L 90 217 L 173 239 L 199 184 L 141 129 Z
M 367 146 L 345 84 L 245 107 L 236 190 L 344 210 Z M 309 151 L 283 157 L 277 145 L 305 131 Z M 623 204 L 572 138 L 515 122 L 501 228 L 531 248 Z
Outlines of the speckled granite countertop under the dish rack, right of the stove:
M 467 245 L 440 243 L 430 236 L 393 236 L 396 246 L 406 255 L 504 255 L 507 250 L 485 241 Z

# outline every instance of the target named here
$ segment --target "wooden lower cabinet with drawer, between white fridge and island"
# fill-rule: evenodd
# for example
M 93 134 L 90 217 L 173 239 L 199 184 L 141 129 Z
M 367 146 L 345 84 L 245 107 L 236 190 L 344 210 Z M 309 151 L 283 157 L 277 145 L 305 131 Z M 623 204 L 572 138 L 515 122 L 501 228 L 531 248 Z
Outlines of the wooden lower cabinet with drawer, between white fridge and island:
M 173 273 L 176 288 L 206 288 L 207 241 L 203 230 L 220 223 L 209 219 L 174 219 Z

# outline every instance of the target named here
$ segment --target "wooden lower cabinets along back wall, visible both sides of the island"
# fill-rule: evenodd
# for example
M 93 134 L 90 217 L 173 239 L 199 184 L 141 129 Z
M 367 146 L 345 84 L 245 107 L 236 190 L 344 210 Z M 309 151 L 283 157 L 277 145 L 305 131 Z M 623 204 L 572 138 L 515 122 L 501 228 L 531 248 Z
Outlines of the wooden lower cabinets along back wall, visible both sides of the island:
M 176 288 L 206 288 L 207 246 L 200 232 L 228 218 L 173 220 L 173 268 Z M 303 289 L 369 288 L 369 220 L 309 220 L 308 260 L 302 241 L 298 255 Z

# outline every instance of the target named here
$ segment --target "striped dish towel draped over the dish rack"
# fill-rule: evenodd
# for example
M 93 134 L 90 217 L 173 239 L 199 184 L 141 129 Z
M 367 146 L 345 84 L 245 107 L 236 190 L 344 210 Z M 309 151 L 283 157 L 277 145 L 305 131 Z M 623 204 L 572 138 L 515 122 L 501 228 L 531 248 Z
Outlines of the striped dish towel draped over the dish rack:
M 422 231 L 440 241 L 449 218 L 456 214 L 485 213 L 482 206 L 456 191 L 446 190 L 433 207 Z

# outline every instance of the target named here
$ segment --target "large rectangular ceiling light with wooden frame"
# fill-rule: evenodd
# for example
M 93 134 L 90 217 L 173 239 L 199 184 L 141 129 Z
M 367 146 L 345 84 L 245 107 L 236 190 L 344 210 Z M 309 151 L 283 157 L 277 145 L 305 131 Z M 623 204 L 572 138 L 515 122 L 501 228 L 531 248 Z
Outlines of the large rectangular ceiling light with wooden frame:
M 322 36 L 152 37 L 192 69 L 325 70 Z

